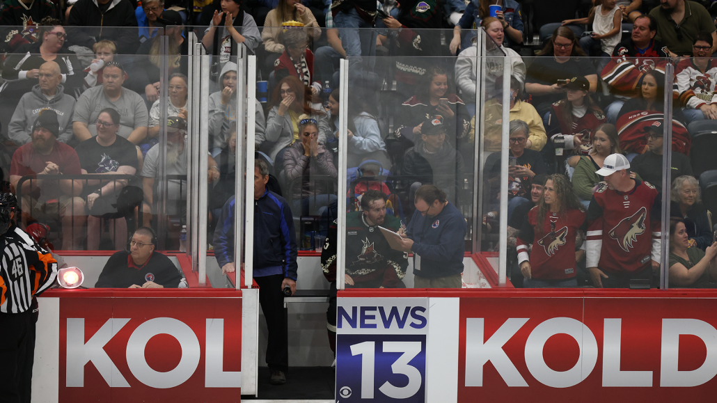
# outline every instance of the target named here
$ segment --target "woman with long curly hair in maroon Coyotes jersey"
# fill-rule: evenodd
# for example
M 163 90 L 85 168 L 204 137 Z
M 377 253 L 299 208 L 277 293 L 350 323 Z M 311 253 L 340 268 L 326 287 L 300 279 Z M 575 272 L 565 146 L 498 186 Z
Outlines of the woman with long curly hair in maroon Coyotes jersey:
M 518 234 L 518 262 L 523 287 L 576 287 L 575 239 L 585 211 L 569 179 L 548 176 L 543 197 L 528 212 Z M 533 250 L 528 257 L 528 245 Z

